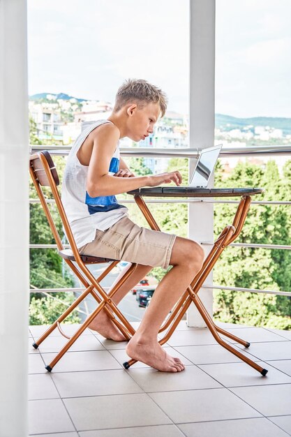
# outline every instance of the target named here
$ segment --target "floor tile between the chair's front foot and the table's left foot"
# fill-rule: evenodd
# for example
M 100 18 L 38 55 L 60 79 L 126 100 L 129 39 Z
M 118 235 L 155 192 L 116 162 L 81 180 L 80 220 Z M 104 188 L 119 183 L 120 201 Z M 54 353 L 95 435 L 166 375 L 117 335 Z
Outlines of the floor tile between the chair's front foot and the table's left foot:
M 45 353 L 43 358 L 50 364 L 56 354 Z M 67 352 L 54 366 L 53 372 L 121 369 L 121 364 L 107 350 Z

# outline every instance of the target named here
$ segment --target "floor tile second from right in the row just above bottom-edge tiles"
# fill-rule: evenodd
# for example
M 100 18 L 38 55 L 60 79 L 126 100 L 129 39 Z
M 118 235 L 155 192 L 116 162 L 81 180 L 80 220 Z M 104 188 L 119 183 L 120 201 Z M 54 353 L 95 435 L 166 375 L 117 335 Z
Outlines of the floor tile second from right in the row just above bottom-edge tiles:
M 227 389 L 151 393 L 174 423 L 259 417 L 260 413 Z

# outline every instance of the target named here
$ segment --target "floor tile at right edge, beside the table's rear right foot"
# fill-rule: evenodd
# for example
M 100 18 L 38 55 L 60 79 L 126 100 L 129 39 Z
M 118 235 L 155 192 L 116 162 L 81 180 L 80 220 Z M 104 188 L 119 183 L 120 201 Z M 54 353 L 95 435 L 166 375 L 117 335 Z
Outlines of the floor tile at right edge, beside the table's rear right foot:
M 238 348 L 241 346 L 237 345 Z M 266 360 L 289 360 L 291 357 L 291 341 L 272 341 L 271 343 L 253 343 L 248 353 Z

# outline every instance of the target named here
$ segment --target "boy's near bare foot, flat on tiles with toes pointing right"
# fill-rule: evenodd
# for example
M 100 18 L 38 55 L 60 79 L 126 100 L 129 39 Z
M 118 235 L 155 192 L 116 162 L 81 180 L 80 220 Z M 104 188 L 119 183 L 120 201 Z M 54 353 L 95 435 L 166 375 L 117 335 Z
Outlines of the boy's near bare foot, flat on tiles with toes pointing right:
M 135 334 L 126 346 L 128 357 L 148 364 L 162 372 L 180 372 L 185 369 L 179 358 L 168 355 L 158 341 L 146 341 Z

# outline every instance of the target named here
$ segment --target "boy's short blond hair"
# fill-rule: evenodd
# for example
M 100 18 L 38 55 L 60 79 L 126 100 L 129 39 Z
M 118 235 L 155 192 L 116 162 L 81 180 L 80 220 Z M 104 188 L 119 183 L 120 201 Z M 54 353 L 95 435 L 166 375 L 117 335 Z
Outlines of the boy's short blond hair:
M 128 103 L 137 103 L 140 107 L 149 103 L 158 103 L 163 117 L 167 109 L 167 96 L 161 88 L 155 87 L 147 80 L 128 79 L 117 91 L 113 112 L 121 110 Z

